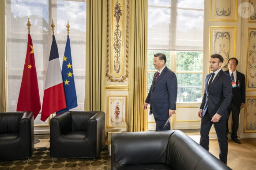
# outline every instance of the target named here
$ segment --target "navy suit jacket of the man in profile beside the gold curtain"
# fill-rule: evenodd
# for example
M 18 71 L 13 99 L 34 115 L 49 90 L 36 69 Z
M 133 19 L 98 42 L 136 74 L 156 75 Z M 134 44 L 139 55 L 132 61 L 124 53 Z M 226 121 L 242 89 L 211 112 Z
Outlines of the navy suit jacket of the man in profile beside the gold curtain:
M 154 73 L 145 102 L 150 103 L 150 114 L 153 113 L 154 117 L 167 117 L 169 116 L 169 109 L 176 110 L 177 77 L 167 66 L 155 82 L 156 76 L 157 72 Z

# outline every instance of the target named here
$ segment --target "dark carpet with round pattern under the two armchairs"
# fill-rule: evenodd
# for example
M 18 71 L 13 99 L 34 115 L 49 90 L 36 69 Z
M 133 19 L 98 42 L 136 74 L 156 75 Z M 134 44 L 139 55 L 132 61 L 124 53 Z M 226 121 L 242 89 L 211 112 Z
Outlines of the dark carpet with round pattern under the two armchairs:
M 92 161 L 93 160 L 93 161 Z M 49 148 L 34 148 L 27 162 L 22 160 L 0 162 L 0 170 L 110 170 L 111 156 L 105 147 L 101 156 L 94 159 L 57 159 L 52 160 Z

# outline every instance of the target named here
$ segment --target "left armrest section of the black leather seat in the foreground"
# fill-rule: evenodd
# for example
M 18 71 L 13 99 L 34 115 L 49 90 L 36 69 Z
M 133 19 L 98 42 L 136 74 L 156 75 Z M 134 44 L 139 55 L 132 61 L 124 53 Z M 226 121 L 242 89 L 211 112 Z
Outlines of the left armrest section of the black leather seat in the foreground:
M 112 167 L 166 163 L 166 148 L 173 131 L 123 132 L 113 134 Z

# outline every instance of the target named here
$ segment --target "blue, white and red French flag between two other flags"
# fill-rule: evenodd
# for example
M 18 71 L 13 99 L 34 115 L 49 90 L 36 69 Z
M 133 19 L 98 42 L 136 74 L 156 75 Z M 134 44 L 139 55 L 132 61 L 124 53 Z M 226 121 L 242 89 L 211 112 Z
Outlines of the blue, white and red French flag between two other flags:
M 51 114 L 65 109 L 66 98 L 60 71 L 59 52 L 55 36 L 49 57 L 49 64 L 45 80 L 45 92 L 41 112 L 41 120 L 45 121 Z

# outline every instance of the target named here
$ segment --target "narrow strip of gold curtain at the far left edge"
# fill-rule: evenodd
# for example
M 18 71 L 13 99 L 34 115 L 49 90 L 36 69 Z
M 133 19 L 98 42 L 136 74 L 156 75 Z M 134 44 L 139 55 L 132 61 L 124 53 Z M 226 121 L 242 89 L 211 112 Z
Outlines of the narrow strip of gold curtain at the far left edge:
M 5 91 L 5 0 L 0 1 L 0 112 L 6 112 Z

